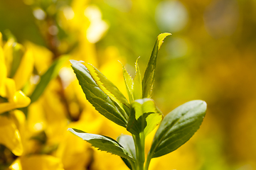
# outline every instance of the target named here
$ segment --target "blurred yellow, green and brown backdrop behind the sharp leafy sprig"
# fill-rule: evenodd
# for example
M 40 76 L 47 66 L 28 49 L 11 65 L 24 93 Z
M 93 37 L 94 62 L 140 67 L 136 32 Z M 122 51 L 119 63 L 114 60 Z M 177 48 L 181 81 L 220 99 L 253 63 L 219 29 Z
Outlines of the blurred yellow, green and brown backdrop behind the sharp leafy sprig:
M 107 135 L 124 128 L 85 99 L 68 60 L 99 68 L 126 93 L 121 61 L 144 72 L 156 36 L 154 100 L 166 115 L 208 103 L 201 128 L 150 169 L 256 169 L 256 1 L 0 1 L 0 169 L 124 169 L 67 131 Z M 149 146 L 154 132 L 146 139 Z

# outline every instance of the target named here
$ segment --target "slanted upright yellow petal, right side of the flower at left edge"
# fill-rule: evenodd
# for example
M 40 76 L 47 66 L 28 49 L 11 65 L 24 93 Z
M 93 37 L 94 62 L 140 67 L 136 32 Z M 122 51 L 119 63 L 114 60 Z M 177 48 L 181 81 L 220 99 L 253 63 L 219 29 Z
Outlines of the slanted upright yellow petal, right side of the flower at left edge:
M 33 63 L 33 53 L 31 52 L 31 50 L 27 50 L 25 55 L 23 55 L 16 74 L 14 75 L 14 81 L 16 83 L 17 90 L 20 90 L 24 86 L 26 81 L 28 81 L 29 77 L 31 77 L 31 74 L 33 72 Z

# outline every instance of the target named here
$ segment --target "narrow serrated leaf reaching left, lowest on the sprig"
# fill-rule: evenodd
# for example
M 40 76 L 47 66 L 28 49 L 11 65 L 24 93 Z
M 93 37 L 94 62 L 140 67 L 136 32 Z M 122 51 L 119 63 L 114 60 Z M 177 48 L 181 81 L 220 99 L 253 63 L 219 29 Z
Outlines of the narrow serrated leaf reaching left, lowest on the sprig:
M 124 157 L 126 159 L 132 160 L 134 162 L 134 158 L 132 155 L 127 152 L 122 145 L 110 137 L 106 137 L 103 135 L 95 135 L 87 132 L 83 132 L 82 130 L 77 130 L 73 128 L 68 128 L 70 132 L 78 137 L 81 137 L 82 140 L 89 142 L 92 147 L 97 147 L 101 151 L 110 152 L 112 154 L 116 154 L 119 157 Z

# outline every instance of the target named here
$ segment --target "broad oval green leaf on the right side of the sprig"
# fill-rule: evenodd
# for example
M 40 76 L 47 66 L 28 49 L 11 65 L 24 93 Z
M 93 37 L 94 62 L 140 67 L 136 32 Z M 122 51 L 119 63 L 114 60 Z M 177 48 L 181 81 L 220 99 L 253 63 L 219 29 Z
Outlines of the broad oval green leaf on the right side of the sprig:
M 188 101 L 171 111 L 159 125 L 149 159 L 169 154 L 187 142 L 200 127 L 206 115 L 205 101 Z

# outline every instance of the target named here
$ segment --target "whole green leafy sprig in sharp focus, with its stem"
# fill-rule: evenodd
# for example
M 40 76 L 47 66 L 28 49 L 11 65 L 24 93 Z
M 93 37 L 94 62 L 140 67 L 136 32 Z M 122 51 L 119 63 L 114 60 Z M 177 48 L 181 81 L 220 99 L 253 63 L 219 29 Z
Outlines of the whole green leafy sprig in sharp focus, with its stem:
M 149 168 L 152 158 L 169 154 L 181 147 L 198 130 L 206 114 L 206 103 L 196 100 L 178 106 L 163 119 L 163 114 L 151 99 L 156 72 L 156 57 L 164 38 L 168 35 L 171 34 L 162 33 L 157 37 L 143 79 L 139 72 L 138 60 L 135 64 L 134 79 L 123 67 L 129 101 L 117 89 L 117 86 L 114 86 L 91 64 L 84 65 L 80 61 L 70 60 L 87 100 L 99 113 L 126 128 L 132 133 L 132 136 L 121 135 L 116 141 L 110 137 L 90 134 L 82 130 L 73 128 L 68 130 L 81 137 L 82 140 L 90 142 L 93 147 L 119 155 L 129 169 L 146 170 Z M 145 163 L 145 137 L 157 125 L 159 128 Z

